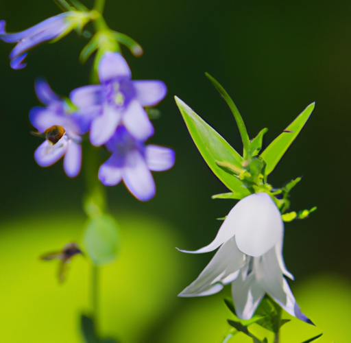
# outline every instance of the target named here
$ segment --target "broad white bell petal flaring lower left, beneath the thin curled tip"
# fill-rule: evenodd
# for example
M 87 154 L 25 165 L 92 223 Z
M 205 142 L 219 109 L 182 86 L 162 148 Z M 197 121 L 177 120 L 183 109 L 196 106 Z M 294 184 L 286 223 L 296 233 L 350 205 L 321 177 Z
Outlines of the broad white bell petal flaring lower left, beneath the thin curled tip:
M 223 285 L 232 282 L 245 263 L 244 254 L 237 248 L 234 237 L 216 252 L 213 259 L 197 279 L 178 296 L 206 296 L 219 292 Z

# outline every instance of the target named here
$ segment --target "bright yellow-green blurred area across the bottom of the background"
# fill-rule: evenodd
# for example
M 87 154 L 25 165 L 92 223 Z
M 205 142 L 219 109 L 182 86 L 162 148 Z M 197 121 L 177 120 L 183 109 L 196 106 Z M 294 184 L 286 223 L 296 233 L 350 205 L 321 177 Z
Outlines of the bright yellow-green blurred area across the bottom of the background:
M 58 261 L 40 261 L 38 256 L 80 239 L 83 222 L 62 214 L 1 224 L 0 342 L 82 342 L 79 317 L 91 305 L 87 259 L 75 257 L 67 280 L 59 285 Z M 177 230 L 135 213 L 123 215 L 119 224 L 120 258 L 102 269 L 99 333 L 125 343 L 220 343 L 230 329 L 230 312 L 223 303 L 229 287 L 215 296 L 177 298 L 186 280 L 195 276 L 189 256 L 174 248 L 175 241 L 184 244 Z M 302 342 L 321 332 L 321 343 L 350 342 L 348 281 L 337 274 L 317 275 L 293 284 L 293 291 L 317 327 L 293 318 L 282 327 L 282 343 Z M 258 338 L 271 338 L 255 325 L 251 329 Z M 230 342 L 251 340 L 240 333 Z

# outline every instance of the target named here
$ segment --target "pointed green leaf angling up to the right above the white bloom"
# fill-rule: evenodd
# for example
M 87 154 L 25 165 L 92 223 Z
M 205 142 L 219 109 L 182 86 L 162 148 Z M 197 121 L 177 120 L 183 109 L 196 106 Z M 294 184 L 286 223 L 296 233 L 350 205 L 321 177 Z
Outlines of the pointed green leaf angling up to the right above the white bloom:
M 274 170 L 282 156 L 285 154 L 291 143 L 298 136 L 304 124 L 310 117 L 313 109 L 315 108 L 315 103 L 307 106 L 302 113 L 282 132 L 274 141 L 272 141 L 268 147 L 263 151 L 261 157 L 267 163 L 266 165 L 266 175 L 271 174 Z

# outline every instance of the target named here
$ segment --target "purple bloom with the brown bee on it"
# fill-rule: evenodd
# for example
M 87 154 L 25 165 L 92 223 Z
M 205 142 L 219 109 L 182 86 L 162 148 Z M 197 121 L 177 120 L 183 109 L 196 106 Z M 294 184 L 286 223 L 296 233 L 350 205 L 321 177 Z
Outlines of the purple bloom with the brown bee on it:
M 66 103 L 51 90 L 43 80 L 36 82 L 36 95 L 47 107 L 36 106 L 29 112 L 29 120 L 46 140 L 34 153 L 36 163 L 48 167 L 64 156 L 64 171 L 73 178 L 80 173 L 82 165 L 81 135 L 88 130 L 89 120 L 80 113 L 70 113 Z M 56 128 L 63 130 L 55 140 L 50 134 Z

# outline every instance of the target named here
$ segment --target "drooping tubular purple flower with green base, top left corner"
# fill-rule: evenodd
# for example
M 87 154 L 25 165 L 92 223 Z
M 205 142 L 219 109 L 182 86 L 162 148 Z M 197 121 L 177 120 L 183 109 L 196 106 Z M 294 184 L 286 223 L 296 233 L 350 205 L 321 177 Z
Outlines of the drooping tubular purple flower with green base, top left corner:
M 29 49 L 49 40 L 58 40 L 72 29 L 82 29 L 89 19 L 90 13 L 69 11 L 52 16 L 22 32 L 10 34 L 5 32 L 5 21 L 0 21 L 0 39 L 7 43 L 17 43 L 10 54 L 11 67 L 24 68 L 27 64 L 23 63 L 23 60 Z

